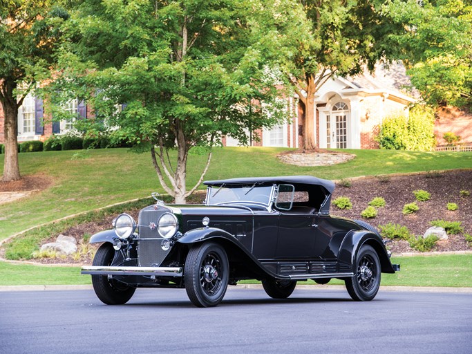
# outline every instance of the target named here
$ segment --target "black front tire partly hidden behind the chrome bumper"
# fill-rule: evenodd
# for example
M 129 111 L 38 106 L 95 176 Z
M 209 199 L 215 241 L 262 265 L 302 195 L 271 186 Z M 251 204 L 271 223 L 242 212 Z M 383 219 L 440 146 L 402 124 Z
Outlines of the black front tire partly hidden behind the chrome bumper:
M 114 255 L 113 246 L 110 243 L 104 243 L 97 250 L 93 265 L 110 265 Z M 108 275 L 92 275 L 92 285 L 97 297 L 107 305 L 126 304 L 136 290 L 134 286 L 108 279 Z

